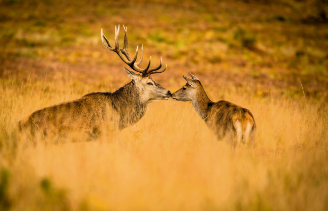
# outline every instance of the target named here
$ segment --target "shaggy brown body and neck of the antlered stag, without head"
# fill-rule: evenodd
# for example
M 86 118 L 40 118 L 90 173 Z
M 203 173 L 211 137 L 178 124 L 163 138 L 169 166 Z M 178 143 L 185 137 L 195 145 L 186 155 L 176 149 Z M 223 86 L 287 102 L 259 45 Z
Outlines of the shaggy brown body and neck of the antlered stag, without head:
M 136 100 L 137 99 L 137 100 Z M 21 128 L 61 132 L 84 130 L 96 135 L 102 127 L 123 129 L 138 122 L 145 114 L 146 102 L 140 101 L 140 91 L 128 83 L 111 92 L 95 92 L 33 112 L 20 122 Z

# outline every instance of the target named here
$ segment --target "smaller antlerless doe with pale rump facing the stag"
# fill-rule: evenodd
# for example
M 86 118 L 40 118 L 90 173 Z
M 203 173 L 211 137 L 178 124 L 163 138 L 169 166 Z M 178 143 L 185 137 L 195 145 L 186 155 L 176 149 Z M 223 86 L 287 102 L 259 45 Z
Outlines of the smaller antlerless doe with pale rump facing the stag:
M 211 101 L 200 80 L 182 75 L 186 85 L 172 94 L 175 101 L 191 101 L 193 108 L 218 139 L 227 138 L 235 147 L 255 140 L 256 124 L 252 113 L 226 100 Z

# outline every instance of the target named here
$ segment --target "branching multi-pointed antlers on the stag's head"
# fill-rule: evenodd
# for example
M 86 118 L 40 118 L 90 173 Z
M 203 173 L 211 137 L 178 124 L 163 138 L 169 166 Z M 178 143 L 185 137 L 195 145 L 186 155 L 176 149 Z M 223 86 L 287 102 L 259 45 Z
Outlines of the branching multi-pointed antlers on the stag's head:
M 105 37 L 105 35 L 103 35 L 102 29 L 101 29 L 100 34 L 101 34 L 101 42 L 102 42 L 103 46 L 105 48 L 107 48 L 108 50 L 112 50 L 112 51 L 116 52 L 119 55 L 119 57 L 121 58 L 121 60 L 123 60 L 123 62 L 125 62 L 127 65 L 129 65 L 133 70 L 135 70 L 139 73 L 142 73 L 142 76 L 144 76 L 144 77 L 149 76 L 150 74 L 164 72 L 167 68 L 167 65 L 165 65 L 164 69 L 159 70 L 163 65 L 163 61 L 162 61 L 161 57 L 160 57 L 160 64 L 155 68 L 149 69 L 151 57 L 149 58 L 149 62 L 148 62 L 148 65 L 147 65 L 146 68 L 142 69 L 142 68 L 139 67 L 139 65 L 141 64 L 142 59 L 143 59 L 143 56 L 142 56 L 143 47 L 141 45 L 140 60 L 138 62 L 136 62 L 137 56 L 138 56 L 139 45 L 137 46 L 136 54 L 134 55 L 134 58 L 132 59 L 129 55 L 128 36 L 127 36 L 128 29 L 127 29 L 127 27 L 124 27 L 124 25 L 123 25 L 123 28 L 124 28 L 123 48 L 119 47 L 120 25 L 117 28 L 115 26 L 115 46 L 114 47 L 112 47 L 110 42 L 108 42 L 108 39 Z

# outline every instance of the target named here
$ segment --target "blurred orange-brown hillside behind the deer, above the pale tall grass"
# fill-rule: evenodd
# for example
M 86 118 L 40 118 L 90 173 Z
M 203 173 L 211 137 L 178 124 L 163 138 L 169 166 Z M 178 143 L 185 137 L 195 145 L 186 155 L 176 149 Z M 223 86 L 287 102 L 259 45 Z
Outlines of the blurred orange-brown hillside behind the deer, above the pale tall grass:
M 62 74 L 117 87 L 126 79 L 124 64 L 102 46 L 100 29 L 114 43 L 115 25 L 124 24 L 130 54 L 143 44 L 144 66 L 150 55 L 154 66 L 160 56 L 168 64 L 156 75 L 165 86 L 182 85 L 181 75 L 191 72 L 205 86 L 301 97 L 302 83 L 308 97 L 327 99 L 327 4 L 2 0 L 0 76 L 21 81 Z M 121 43 L 123 35 L 121 26 Z

